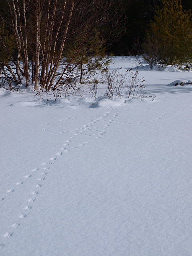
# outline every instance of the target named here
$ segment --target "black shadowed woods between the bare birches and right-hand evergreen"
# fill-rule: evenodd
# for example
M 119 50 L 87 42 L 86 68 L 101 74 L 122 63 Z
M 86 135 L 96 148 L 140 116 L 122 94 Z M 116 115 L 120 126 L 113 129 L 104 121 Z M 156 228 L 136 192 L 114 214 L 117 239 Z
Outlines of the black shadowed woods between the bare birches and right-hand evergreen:
M 126 0 L 124 1 L 126 4 Z M 184 10 L 192 9 L 192 0 L 181 0 Z M 134 55 L 135 43 L 142 44 L 150 21 L 153 20 L 157 7 L 162 7 L 162 0 L 130 0 L 125 7 L 126 26 L 118 42 L 108 47 L 114 55 Z

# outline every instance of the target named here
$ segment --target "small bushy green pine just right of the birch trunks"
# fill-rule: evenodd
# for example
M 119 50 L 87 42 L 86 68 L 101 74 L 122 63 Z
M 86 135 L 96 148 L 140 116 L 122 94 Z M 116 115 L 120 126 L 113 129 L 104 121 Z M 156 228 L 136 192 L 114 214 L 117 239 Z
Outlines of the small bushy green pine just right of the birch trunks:
M 64 57 L 67 61 L 72 60 L 71 64 L 74 71 L 78 71 L 76 76 L 78 75 L 80 83 L 83 82 L 82 79 L 93 77 L 110 63 L 110 58 L 105 53 L 104 41 L 96 29 L 82 30 L 72 38 L 66 49 Z

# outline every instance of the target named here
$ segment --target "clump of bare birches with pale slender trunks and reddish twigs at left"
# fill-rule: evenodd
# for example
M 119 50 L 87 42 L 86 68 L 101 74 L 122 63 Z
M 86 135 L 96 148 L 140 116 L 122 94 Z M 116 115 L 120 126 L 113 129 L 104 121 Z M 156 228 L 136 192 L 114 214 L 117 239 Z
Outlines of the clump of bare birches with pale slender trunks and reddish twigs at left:
M 63 76 L 73 71 L 77 55 L 90 49 L 86 44 L 93 29 L 100 34 L 101 46 L 108 38 L 116 36 L 122 13 L 113 8 L 114 2 L 106 0 L 7 0 L 10 7 L 10 30 L 16 40 L 16 76 L 26 78 L 26 86 L 34 83 L 46 90 L 56 88 Z M 4 17 L 6 20 L 6 17 Z M 8 22 L 7 22 L 8 24 Z M 115 34 L 112 31 L 116 31 Z M 81 34 L 68 62 L 60 64 L 72 38 Z M 106 36 L 107 35 L 107 36 Z M 67 43 L 66 43 L 67 42 Z M 94 67 L 93 67 L 94 68 Z

